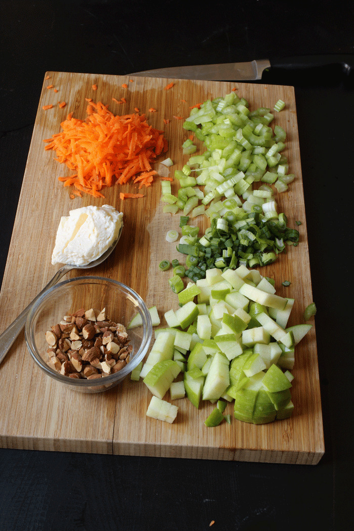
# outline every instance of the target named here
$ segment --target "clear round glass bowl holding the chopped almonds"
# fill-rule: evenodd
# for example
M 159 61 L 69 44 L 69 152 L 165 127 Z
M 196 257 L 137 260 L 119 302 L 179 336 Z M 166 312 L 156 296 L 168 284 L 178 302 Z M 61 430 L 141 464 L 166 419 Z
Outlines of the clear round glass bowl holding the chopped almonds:
M 102 310 L 116 323 L 128 326 L 136 314 L 142 324 L 127 330 L 129 345 L 133 347 L 129 362 L 122 370 L 99 379 L 69 378 L 48 365 L 49 348 L 46 331 L 59 323 L 64 315 L 90 308 Z M 133 289 L 109 278 L 76 277 L 48 289 L 32 306 L 26 324 L 25 339 L 34 362 L 50 378 L 66 387 L 85 393 L 106 391 L 116 386 L 143 360 L 152 338 L 151 316 L 143 299 Z

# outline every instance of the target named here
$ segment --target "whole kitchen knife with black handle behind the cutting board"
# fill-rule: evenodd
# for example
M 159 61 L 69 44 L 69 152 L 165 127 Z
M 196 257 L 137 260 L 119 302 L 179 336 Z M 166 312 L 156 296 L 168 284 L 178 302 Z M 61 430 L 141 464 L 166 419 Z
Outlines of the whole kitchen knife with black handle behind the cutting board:
M 204 81 L 257 81 L 262 79 L 264 70 L 314 68 L 340 64 L 349 74 L 354 63 L 354 55 L 303 55 L 273 59 L 256 59 L 244 63 L 221 63 L 211 65 L 175 66 L 145 70 L 129 75 L 148 78 L 199 79 Z

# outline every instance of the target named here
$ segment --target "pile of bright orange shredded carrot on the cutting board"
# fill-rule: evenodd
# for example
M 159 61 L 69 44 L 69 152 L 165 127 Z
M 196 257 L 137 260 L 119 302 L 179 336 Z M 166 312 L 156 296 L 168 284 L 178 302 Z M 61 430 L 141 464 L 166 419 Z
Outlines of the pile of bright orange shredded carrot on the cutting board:
M 59 181 L 95 197 L 130 179 L 139 188 L 151 186 L 157 175 L 151 164 L 168 149 L 163 131 L 153 129 L 144 114 L 115 116 L 101 102 L 91 102 L 87 114 L 85 121 L 68 114 L 62 132 L 44 140 L 45 150 L 53 149 L 55 160 L 74 171 Z

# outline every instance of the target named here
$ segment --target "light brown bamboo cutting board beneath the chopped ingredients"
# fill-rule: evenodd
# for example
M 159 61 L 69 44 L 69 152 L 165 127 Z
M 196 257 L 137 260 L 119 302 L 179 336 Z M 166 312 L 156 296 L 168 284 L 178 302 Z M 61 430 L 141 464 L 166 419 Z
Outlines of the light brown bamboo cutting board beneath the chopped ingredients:
M 181 261 L 182 255 L 165 239 L 169 229 L 178 228 L 179 215 L 162 212 L 158 179 L 144 189 L 143 199 L 119 199 L 120 191 L 137 191 L 131 184 L 123 189 L 106 189 L 105 199 L 88 195 L 70 199 L 70 190 L 58 181 L 59 176 L 70 175 L 70 170 L 54 160 L 53 152 L 44 150 L 42 140 L 60 131 L 60 123 L 69 112 L 84 119 L 85 98 L 108 104 L 115 114 L 128 114 L 137 107 L 140 113 L 146 113 L 149 124 L 165 131 L 169 142 L 166 157 L 175 164 L 166 168 L 156 162 L 154 168 L 161 176 L 172 176 L 188 160 L 181 149 L 188 133 L 178 117 L 187 118 L 189 107 L 225 96 L 232 88 L 249 101 L 252 109 L 273 108 L 279 98 L 287 104 L 281 113 L 274 113 L 273 124 L 287 131 L 284 154 L 289 159 L 289 173 L 294 173 L 296 179 L 288 192 L 276 195 L 276 200 L 278 211 L 286 213 L 290 227 L 296 228 L 295 221 L 301 221 L 300 244 L 288 247 L 274 264 L 262 268 L 262 274 L 275 279 L 277 294 L 296 299 L 289 325 L 303 322 L 304 309 L 312 302 L 312 286 L 292 87 L 174 80 L 171 89 L 163 90 L 172 80 L 65 72 L 46 75 L 49 79 L 42 88 L 1 291 L 1 332 L 56 272 L 51 253 L 60 218 L 73 208 L 105 203 L 124 213 L 124 230 L 115 254 L 96 269 L 76 270 L 67 278 L 86 274 L 124 282 L 142 296 L 148 307 L 157 305 L 161 326 L 166 326 L 163 314 L 171 308 L 176 310 L 178 299 L 168 285 L 170 272 L 160 272 L 158 264 L 166 258 Z M 128 88 L 122 87 L 124 83 Z M 92 90 L 93 84 L 98 87 L 96 91 Z M 47 85 L 54 85 L 57 92 Z M 122 97 L 126 100 L 122 104 L 112 100 Z M 66 102 L 64 108 L 58 106 L 62 101 Z M 42 106 L 48 104 L 54 107 L 43 110 Z M 156 112 L 149 112 L 150 108 Z M 163 119 L 170 122 L 165 124 Z M 172 184 L 172 193 L 177 193 L 176 186 Z M 206 218 L 201 218 L 193 220 L 200 225 L 200 234 L 207 226 Z M 282 287 L 284 280 L 291 281 L 289 287 Z M 296 347 L 292 372 L 295 412 L 289 419 L 251 425 L 232 418 L 231 425 L 222 423 L 207 429 L 204 420 L 214 406 L 208 402 L 196 409 L 187 399 L 181 399 L 176 401 L 179 411 L 175 422 L 167 424 L 146 417 L 151 394 L 142 381 L 127 378 L 115 389 L 96 395 L 61 387 L 34 365 L 22 333 L 0 366 L 0 444 L 19 449 L 317 464 L 324 453 L 324 440 L 315 327 Z M 232 404 L 225 413 L 232 415 Z

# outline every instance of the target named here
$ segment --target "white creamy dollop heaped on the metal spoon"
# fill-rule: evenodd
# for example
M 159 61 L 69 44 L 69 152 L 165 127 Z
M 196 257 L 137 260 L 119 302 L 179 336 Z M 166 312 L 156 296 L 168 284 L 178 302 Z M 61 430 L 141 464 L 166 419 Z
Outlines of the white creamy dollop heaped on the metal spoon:
M 122 226 L 123 213 L 108 204 L 70 210 L 59 223 L 51 263 L 87 265 L 107 251 Z

